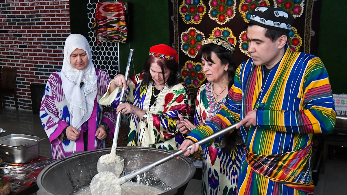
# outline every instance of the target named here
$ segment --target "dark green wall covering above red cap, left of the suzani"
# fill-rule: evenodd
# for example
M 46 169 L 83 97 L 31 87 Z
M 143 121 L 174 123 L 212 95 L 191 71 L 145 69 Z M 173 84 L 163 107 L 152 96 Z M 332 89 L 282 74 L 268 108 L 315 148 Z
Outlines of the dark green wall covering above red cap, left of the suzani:
M 169 45 L 169 5 L 167 0 L 127 0 L 133 3 L 134 39 L 125 44 L 119 43 L 120 71 L 125 72 L 130 48 L 134 49 L 135 73 L 139 73 L 153 45 Z M 133 64 L 129 75 L 134 75 Z

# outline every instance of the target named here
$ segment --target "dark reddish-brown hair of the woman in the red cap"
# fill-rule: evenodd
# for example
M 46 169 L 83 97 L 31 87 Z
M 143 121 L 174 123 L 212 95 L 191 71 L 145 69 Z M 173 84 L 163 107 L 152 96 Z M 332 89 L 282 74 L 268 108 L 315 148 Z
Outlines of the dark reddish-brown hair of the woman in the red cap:
M 174 60 L 166 60 L 162 58 L 157 58 L 157 57 L 152 57 L 149 56 L 145 60 L 145 65 L 143 66 L 143 81 L 145 84 L 149 84 L 151 81 L 153 81 L 151 73 L 150 73 L 150 67 L 152 63 L 158 63 L 158 65 L 161 67 L 161 73 L 163 74 L 164 77 L 164 69 L 165 67 L 171 71 L 171 74 L 168 78 L 168 80 L 164 80 L 164 82 L 167 82 L 169 87 L 175 86 L 181 82 L 183 82 L 183 79 L 180 78 L 180 71 L 181 71 L 181 66 L 178 65 L 178 63 Z M 154 81 L 153 81 L 154 82 Z

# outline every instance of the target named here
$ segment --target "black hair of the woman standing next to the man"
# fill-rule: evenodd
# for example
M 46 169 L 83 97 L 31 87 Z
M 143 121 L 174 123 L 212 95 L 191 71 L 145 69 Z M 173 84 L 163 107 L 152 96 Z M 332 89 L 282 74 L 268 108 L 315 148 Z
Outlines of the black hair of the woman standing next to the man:
M 197 54 L 198 60 L 201 60 L 202 57 L 209 61 L 212 62 L 211 59 L 211 53 L 214 52 L 217 57 L 220 59 L 222 65 L 229 64 L 228 66 L 228 79 L 229 79 L 229 89 L 231 86 L 234 84 L 234 77 L 235 77 L 235 70 L 237 68 L 234 58 L 232 58 L 232 54 L 229 50 L 226 48 L 216 45 L 216 44 L 205 44 L 203 45 Z M 233 133 L 227 136 L 226 138 L 226 147 L 225 150 L 231 151 L 232 149 L 235 148 L 236 146 L 236 137 L 237 137 L 237 131 L 235 130 Z

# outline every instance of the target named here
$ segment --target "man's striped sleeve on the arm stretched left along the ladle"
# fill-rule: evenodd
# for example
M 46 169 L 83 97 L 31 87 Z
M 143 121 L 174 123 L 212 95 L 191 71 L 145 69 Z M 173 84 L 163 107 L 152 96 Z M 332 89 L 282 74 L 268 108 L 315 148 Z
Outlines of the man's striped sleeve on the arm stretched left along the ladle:
M 230 88 L 228 92 L 228 97 L 226 102 L 222 105 L 222 109 L 217 113 L 211 121 L 206 121 L 204 125 L 200 125 L 192 130 L 186 139 L 190 139 L 193 142 L 207 137 L 219 130 L 228 127 L 236 121 L 240 120 L 240 108 L 242 102 L 242 85 L 239 66 L 235 71 L 234 85 Z M 232 133 L 231 131 L 230 133 Z M 209 147 L 214 142 L 219 142 L 224 136 L 220 136 L 204 145 L 200 146 L 200 150 Z

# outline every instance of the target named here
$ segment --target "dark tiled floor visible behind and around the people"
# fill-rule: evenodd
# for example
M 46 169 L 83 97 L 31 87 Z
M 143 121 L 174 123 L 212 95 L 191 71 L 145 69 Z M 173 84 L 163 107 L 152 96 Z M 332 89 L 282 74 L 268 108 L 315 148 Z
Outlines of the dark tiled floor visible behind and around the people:
M 5 109 L 0 115 L 0 128 L 7 130 L 4 135 L 27 134 L 46 138 L 40 142 L 40 155 L 50 156 L 50 143 L 41 125 L 39 115 L 31 111 Z M 314 195 L 347 195 L 347 159 L 329 159 L 325 174 L 319 177 Z M 185 195 L 200 195 L 201 180 L 192 179 L 185 191 Z

